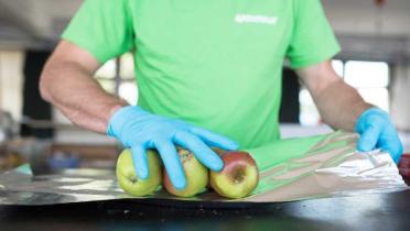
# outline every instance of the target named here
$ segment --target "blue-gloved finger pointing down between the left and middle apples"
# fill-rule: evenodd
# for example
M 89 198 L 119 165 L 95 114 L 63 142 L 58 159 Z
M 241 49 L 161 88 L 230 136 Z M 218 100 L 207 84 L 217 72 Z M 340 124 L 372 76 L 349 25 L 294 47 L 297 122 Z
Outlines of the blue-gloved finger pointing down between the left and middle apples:
M 185 173 L 181 164 L 180 155 L 173 143 L 169 141 L 155 142 L 155 147 L 164 163 L 172 185 L 176 189 L 183 189 L 186 186 Z

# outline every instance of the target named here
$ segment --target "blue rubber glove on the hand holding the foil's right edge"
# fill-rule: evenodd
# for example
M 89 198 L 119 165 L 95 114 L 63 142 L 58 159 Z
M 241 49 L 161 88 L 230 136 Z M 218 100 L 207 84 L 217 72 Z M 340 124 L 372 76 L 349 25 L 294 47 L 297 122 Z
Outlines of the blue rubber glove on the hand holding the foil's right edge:
M 396 164 L 399 163 L 403 146 L 387 112 L 378 108 L 367 109 L 356 122 L 356 132 L 360 134 L 358 151 L 381 148 L 389 152 Z

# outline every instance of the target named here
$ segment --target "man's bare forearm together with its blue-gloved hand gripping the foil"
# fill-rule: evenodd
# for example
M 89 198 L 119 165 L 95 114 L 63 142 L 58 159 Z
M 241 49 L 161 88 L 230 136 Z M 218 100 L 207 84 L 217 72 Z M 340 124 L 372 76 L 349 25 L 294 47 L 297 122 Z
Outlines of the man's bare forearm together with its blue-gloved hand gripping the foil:
M 327 124 L 360 134 L 357 150 L 381 148 L 399 163 L 403 146 L 388 113 L 365 102 L 336 75 L 330 61 L 296 72 Z

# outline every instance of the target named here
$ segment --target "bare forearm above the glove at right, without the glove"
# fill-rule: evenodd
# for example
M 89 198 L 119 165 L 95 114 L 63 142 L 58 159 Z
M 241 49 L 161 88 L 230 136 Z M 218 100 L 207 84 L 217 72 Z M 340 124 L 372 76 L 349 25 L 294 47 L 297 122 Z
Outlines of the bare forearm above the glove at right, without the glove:
M 296 73 L 311 92 L 324 122 L 335 129 L 354 131 L 357 118 L 374 107 L 337 76 L 330 61 L 298 69 Z

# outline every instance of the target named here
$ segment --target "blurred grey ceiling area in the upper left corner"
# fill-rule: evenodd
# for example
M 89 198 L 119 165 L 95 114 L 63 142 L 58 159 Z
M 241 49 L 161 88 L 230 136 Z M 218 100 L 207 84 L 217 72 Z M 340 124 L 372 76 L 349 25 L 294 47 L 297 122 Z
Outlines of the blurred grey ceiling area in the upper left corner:
M 0 0 L 0 45 L 42 47 L 53 44 L 82 2 Z

